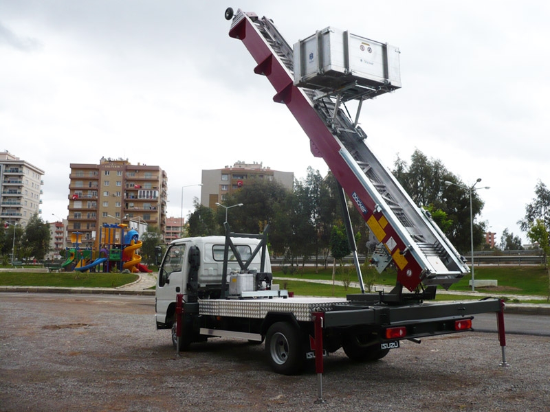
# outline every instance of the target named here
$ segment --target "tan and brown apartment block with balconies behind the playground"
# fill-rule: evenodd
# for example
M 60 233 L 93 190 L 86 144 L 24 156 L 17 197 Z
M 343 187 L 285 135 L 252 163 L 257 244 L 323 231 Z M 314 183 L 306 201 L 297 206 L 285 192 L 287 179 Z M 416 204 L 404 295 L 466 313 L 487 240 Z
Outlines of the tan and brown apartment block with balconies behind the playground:
M 159 166 L 128 159 L 100 159 L 99 164 L 71 163 L 67 238 L 82 233 L 84 246 L 104 223 L 144 222 L 166 229 L 168 177 Z

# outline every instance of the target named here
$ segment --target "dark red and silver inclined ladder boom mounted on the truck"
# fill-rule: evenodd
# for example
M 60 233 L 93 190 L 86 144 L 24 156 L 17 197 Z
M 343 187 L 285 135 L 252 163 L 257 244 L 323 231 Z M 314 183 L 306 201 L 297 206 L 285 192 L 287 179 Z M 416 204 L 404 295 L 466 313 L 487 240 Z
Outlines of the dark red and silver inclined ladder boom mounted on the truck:
M 254 73 L 270 80 L 274 102 L 287 105 L 309 137 L 311 152 L 325 160 L 360 211 L 380 242 L 380 256 L 395 264 L 397 282 L 410 291 L 421 284 L 448 288 L 469 273 L 429 214 L 365 143 L 362 129 L 340 108 L 341 96 L 294 86 L 292 47 L 270 19 L 238 10 L 229 35 L 247 47 L 256 60 Z

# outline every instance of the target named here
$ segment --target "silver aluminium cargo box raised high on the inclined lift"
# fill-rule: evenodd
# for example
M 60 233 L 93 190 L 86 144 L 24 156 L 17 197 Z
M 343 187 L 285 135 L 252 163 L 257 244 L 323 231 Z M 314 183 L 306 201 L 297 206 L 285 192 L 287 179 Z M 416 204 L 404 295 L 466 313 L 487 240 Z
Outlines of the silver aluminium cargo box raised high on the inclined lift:
M 296 86 L 335 90 L 355 82 L 384 92 L 399 89 L 399 49 L 333 27 L 294 45 Z

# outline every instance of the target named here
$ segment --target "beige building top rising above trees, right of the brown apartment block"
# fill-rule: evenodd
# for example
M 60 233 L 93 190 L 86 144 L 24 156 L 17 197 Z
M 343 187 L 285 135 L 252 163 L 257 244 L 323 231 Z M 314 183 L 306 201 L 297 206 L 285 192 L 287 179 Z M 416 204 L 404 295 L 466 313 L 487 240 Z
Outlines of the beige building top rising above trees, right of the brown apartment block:
M 201 205 L 216 207 L 216 203 L 223 203 L 226 196 L 244 185 L 252 183 L 255 179 L 265 181 L 278 181 L 288 190 L 294 189 L 294 173 L 279 172 L 262 163 L 245 163 L 236 161 L 232 166 L 223 169 L 203 170 Z

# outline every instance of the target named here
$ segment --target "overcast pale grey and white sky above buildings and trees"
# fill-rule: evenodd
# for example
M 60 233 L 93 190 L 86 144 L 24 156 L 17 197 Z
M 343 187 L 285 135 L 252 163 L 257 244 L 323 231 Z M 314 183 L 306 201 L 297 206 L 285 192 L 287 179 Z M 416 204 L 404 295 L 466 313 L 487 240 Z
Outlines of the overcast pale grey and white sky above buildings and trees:
M 516 222 L 550 185 L 547 1 L 0 0 L 0 150 L 45 171 L 42 218 L 66 218 L 69 164 L 159 165 L 168 215 L 201 170 L 261 162 L 305 177 L 322 159 L 228 36 L 228 6 L 270 17 L 290 44 L 327 26 L 399 47 L 402 89 L 364 104 L 382 163 L 417 148 Z M 184 216 L 199 197 L 184 187 Z M 54 216 L 55 215 L 55 216 Z

